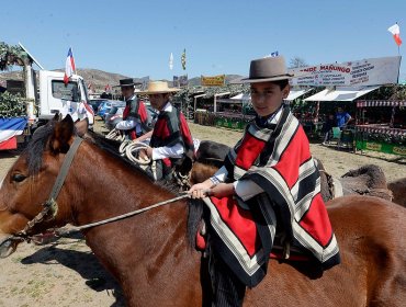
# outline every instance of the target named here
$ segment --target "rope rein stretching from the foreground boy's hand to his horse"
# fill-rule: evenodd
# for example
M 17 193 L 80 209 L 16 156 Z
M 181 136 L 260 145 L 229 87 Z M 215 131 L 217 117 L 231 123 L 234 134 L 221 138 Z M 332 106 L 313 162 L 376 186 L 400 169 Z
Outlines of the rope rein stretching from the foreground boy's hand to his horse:
M 112 223 L 112 221 L 121 220 L 121 219 L 124 219 L 124 218 L 127 218 L 127 217 L 131 217 L 131 216 L 134 216 L 134 215 L 137 215 L 137 214 L 140 214 L 140 213 L 144 213 L 144 212 L 147 212 L 147 211 L 150 211 L 150 209 L 154 209 L 154 208 L 157 208 L 157 207 L 170 204 L 170 203 L 174 203 L 174 202 L 178 202 L 178 201 L 183 200 L 183 198 L 189 198 L 189 197 L 190 197 L 190 194 L 184 194 L 184 195 L 181 195 L 181 196 L 178 196 L 178 197 L 174 197 L 174 198 L 170 198 L 168 201 L 156 203 L 156 204 L 150 205 L 150 206 L 145 207 L 145 208 L 133 211 L 133 212 L 122 214 L 122 215 L 119 215 L 119 216 L 114 216 L 114 217 L 111 217 L 111 218 L 106 218 L 106 219 L 102 219 L 102 220 L 99 220 L 99 221 L 86 224 L 86 225 L 82 225 L 82 226 L 76 226 L 76 227 L 72 227 L 72 228 L 69 228 L 69 229 L 56 229 L 55 232 L 56 232 L 57 236 L 69 235 L 69 234 L 77 232 L 77 231 L 88 229 L 88 228 L 91 228 L 91 227 L 95 227 L 95 226 L 109 224 L 109 223 Z

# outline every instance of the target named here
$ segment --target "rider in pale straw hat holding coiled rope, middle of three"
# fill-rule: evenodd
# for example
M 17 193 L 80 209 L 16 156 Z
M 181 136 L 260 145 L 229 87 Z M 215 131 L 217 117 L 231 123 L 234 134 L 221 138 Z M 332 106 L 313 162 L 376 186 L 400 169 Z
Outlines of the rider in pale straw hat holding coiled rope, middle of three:
M 159 111 L 154 130 L 142 136 L 142 141 L 150 136 L 149 148 L 142 150 L 139 157 L 156 161 L 156 180 L 172 179 L 172 167 L 181 158 L 194 158 L 194 146 L 187 120 L 170 103 L 170 95 L 179 89 L 169 88 L 165 81 L 150 81 L 148 89 L 140 94 L 149 96 L 150 104 Z M 151 172 L 150 168 L 147 172 Z

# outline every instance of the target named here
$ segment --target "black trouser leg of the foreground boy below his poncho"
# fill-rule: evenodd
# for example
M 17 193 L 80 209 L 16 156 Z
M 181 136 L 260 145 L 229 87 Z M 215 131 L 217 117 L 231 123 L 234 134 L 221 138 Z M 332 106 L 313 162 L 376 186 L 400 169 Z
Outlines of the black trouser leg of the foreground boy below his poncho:
M 208 270 L 213 287 L 212 306 L 237 307 L 243 306 L 246 285 L 239 281 L 219 255 L 210 252 Z

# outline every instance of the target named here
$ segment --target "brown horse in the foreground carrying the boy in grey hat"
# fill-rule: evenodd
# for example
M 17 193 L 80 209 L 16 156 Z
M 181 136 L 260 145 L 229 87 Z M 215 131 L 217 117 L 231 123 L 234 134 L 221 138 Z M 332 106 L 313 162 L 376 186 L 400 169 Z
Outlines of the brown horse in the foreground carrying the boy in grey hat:
M 82 141 L 56 198 L 58 209 L 38 218 L 68 149 L 77 145 L 74 138 L 69 117 L 44 127 L 8 172 L 0 189 L 1 255 L 15 249 L 18 241 L 8 238 L 22 229 L 32 235 L 66 223 L 83 225 L 174 197 Z M 200 253 L 187 239 L 188 207 L 179 201 L 83 231 L 128 306 L 203 305 L 208 287 Z M 271 260 L 268 276 L 247 291 L 245 306 L 404 306 L 406 209 L 377 197 L 345 196 L 331 201 L 328 212 L 342 263 L 322 272 L 308 262 Z

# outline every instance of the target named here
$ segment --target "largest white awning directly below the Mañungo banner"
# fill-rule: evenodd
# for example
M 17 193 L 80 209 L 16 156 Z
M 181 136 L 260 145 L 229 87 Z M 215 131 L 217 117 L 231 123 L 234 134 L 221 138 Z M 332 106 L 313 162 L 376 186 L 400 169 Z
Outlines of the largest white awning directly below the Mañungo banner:
M 372 92 L 380 87 L 363 87 L 363 88 L 337 88 L 335 90 L 325 89 L 314 95 L 311 95 L 304 101 L 353 101 L 369 92 Z

